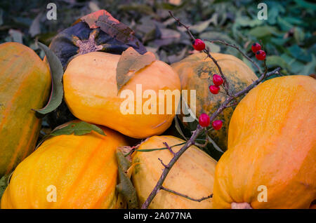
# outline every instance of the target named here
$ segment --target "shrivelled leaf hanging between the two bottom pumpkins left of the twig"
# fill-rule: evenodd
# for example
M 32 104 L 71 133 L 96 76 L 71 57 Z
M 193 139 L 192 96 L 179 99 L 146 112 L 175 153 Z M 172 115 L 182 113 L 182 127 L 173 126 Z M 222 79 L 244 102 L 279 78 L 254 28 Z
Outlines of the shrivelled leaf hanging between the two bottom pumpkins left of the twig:
M 130 167 L 131 163 L 124 157 L 124 154 L 122 154 L 119 149 L 117 149 L 116 155 L 117 163 L 119 163 L 119 184 L 117 184 L 117 191 L 119 191 L 119 193 L 124 197 L 128 208 L 138 208 L 139 205 L 136 189 L 133 187 L 131 179 L 129 179 L 129 176 L 126 174 L 126 171 Z

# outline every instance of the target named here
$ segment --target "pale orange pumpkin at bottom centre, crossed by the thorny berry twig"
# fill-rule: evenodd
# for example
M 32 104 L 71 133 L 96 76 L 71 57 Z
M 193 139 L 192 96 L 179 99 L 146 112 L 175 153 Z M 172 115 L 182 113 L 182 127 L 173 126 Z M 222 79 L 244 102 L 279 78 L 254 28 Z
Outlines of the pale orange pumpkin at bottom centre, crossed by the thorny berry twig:
M 145 140 L 138 149 L 156 149 L 181 144 L 184 141 L 177 137 L 162 135 L 152 136 Z M 182 146 L 172 147 L 173 151 L 178 151 Z M 136 151 L 133 154 L 133 163 L 135 165 L 132 173 L 133 185 L 140 201 L 143 204 L 149 196 L 154 186 L 157 184 L 162 169 L 164 168 L 158 158 L 168 164 L 173 154 L 169 150 L 157 151 Z M 192 146 L 180 156 L 178 161 L 171 168 L 166 177 L 163 186 L 185 194 L 191 198 L 202 198 L 212 194 L 213 176 L 216 161 L 199 148 Z M 149 208 L 153 209 L 189 209 L 189 208 L 212 208 L 212 198 L 204 201 L 191 201 L 183 196 L 171 194 L 169 191 L 160 190 L 154 197 Z

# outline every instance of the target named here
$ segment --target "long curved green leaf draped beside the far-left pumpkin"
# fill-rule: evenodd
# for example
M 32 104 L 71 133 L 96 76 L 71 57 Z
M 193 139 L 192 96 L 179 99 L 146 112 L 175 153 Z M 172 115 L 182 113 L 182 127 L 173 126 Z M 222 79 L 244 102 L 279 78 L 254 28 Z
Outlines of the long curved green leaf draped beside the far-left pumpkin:
M 62 75 L 64 74 L 62 70 L 62 64 L 58 57 L 51 51 L 47 46 L 43 43 L 39 43 L 39 48 L 44 50 L 46 54 L 46 58 L 49 63 L 49 67 L 51 69 L 51 96 L 49 97 L 48 103 L 42 109 L 34 109 L 40 114 L 48 114 L 49 112 L 53 112 L 60 103 L 62 102 L 62 96 L 64 94 L 64 90 L 62 88 Z

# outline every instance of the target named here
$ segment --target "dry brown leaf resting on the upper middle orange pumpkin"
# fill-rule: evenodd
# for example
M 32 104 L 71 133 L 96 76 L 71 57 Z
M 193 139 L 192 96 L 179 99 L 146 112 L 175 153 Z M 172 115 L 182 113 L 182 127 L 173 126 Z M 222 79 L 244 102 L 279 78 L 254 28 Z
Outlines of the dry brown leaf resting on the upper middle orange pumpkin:
M 132 47 L 127 48 L 121 54 L 117 64 L 117 92 L 138 70 L 150 65 L 154 60 L 156 60 L 156 56 L 152 52 L 141 55 Z

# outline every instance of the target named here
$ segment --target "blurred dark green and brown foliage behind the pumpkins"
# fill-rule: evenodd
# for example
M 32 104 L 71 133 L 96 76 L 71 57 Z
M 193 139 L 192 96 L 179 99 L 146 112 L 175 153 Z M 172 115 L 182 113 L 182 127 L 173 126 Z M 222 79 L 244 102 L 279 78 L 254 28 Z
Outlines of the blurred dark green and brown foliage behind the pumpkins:
M 57 20 L 47 20 L 48 3 L 57 6 Z M 190 25 L 197 38 L 235 43 L 251 58 L 251 43 L 262 41 L 268 67 L 282 67 L 282 74 L 313 74 L 316 65 L 316 4 L 307 0 L 264 1 L 268 20 L 258 20 L 261 1 L 249 0 L 59 0 L 0 2 L 0 43 L 20 41 L 41 57 L 34 39 L 47 45 L 55 34 L 82 15 L 105 9 L 135 30 L 147 50 L 160 60 L 177 62 L 195 53 L 183 27 L 170 18 L 173 11 Z M 207 43 L 212 52 L 229 53 L 254 67 L 233 48 Z M 255 69 L 254 69 L 255 70 Z

